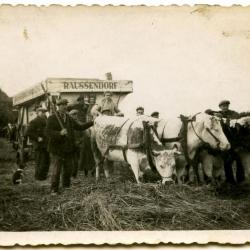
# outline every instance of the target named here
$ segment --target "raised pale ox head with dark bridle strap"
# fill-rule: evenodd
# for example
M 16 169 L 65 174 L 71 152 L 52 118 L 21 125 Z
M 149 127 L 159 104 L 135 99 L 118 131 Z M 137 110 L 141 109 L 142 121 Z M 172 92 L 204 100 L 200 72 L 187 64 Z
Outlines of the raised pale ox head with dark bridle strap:
M 204 116 L 201 115 L 201 121 L 204 125 L 200 131 L 201 138 L 211 148 L 223 151 L 230 149 L 230 143 L 223 132 L 220 118 L 204 114 Z

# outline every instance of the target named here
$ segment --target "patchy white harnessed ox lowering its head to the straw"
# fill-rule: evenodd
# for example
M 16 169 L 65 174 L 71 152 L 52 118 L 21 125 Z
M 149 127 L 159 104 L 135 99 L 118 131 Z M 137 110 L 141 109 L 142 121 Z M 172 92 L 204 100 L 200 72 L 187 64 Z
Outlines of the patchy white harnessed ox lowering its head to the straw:
M 99 179 L 100 165 L 103 163 L 106 178 L 109 178 L 109 162 L 127 162 L 134 173 L 137 183 L 143 174 L 150 170 L 149 156 L 145 152 L 143 138 L 145 137 L 145 127 L 143 122 L 149 124 L 147 145 L 152 148 L 151 160 L 157 172 L 162 177 L 162 183 L 172 182 L 172 175 L 175 167 L 174 154 L 176 150 L 166 150 L 159 141 L 153 124 L 158 119 L 140 116 L 132 119 L 115 116 L 98 116 L 92 128 L 91 146 L 96 162 L 96 178 Z

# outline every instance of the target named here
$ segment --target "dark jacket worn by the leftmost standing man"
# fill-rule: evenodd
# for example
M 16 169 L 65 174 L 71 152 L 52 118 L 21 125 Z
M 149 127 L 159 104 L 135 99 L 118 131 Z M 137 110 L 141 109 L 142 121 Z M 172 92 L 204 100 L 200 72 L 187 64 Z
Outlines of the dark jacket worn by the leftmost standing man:
M 27 129 L 27 136 L 29 136 L 35 150 L 46 149 L 47 138 L 45 135 L 47 118 L 37 116 L 33 119 Z M 41 142 L 38 141 L 38 137 L 43 138 Z

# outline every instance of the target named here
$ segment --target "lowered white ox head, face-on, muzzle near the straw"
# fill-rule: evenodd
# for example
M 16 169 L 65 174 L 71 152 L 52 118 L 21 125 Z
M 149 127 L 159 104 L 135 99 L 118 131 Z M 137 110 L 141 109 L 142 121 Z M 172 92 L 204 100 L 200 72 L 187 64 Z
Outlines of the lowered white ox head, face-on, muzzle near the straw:
M 157 172 L 162 178 L 162 184 L 173 183 L 173 174 L 175 173 L 175 157 L 180 154 L 177 148 L 163 149 L 160 151 L 153 151 Z

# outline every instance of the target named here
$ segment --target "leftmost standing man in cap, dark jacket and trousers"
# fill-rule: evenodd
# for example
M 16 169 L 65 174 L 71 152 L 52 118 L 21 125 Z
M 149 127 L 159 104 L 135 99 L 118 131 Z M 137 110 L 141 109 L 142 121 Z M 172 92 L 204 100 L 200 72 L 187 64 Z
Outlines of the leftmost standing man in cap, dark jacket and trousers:
M 47 122 L 46 109 L 39 106 L 35 108 L 37 117 L 33 119 L 27 130 L 35 150 L 35 179 L 45 180 L 49 171 L 49 153 L 47 151 L 47 138 L 45 127 Z

